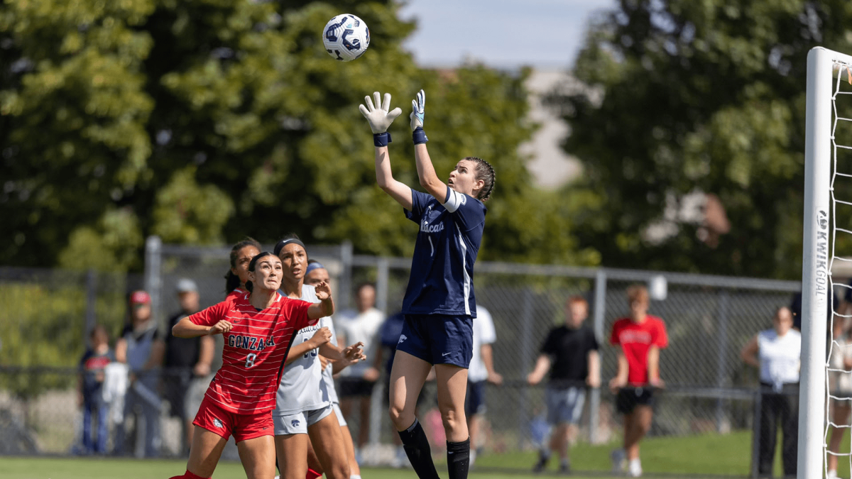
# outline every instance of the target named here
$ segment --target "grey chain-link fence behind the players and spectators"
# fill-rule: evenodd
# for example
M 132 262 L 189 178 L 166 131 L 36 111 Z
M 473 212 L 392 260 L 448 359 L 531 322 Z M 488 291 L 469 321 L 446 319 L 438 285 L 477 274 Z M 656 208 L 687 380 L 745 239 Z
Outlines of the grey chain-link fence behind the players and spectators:
M 13 354 L 6 353 L 7 348 L 18 347 L 8 341 L 25 341 L 20 336 L 7 336 L 7 330 L 26 328 L 30 315 L 67 316 L 70 319 L 56 330 L 56 334 L 71 335 L 75 344 L 83 344 L 87 326 L 95 320 L 124 318 L 124 294 L 140 284 L 151 292 L 153 313 L 159 321 L 179 309 L 175 287 L 181 278 L 192 279 L 198 284 L 202 306 L 216 303 L 224 296 L 223 275 L 229 267 L 228 252 L 228 248 L 161 245 L 156 239 L 149 240 L 144 280 L 123 275 L 107 280 L 99 276 L 93 283 L 90 279 L 92 275 L 97 276 L 94 273 L 72 274 L 56 280 L 66 274 L 58 272 L 32 274 L 32 278 L 26 280 L 18 270 L 0 269 L 0 298 L 5 300 L 0 315 L 8 316 L 0 321 L 4 332 L 0 337 L 3 340 L 2 365 L 43 364 L 36 358 L 21 362 Z M 347 244 L 309 246 L 308 253 L 329 269 L 338 311 L 351 307 L 353 286 L 362 281 L 376 284 L 378 309 L 388 315 L 400 310 L 410 259 L 353 255 L 351 245 Z M 791 302 L 792 294 L 799 291 L 798 282 L 480 262 L 476 264 L 476 298 L 492 314 L 497 330 L 497 342 L 493 344 L 494 366 L 505 378 L 503 386 L 486 387 L 489 433 L 485 451 L 528 450 L 543 440 L 544 386 L 527 386 L 525 378 L 532 371 L 550 328 L 565 320 L 565 303 L 569 297 L 580 295 L 590 304 L 588 321 L 602 344 L 602 379 L 606 384 L 616 369 L 616 350 L 608 346 L 608 334 L 613 322 L 629 313 L 626 288 L 637 282 L 659 285 L 662 284 L 660 278 L 665 278 L 665 299 L 652 301 L 649 313 L 665 320 L 670 346 L 660 355 L 666 390 L 659 395 L 655 406 L 650 436 L 751 430 L 755 418 L 757 372 L 743 365 L 740 349 L 758 331 L 771 327 L 774 309 Z M 85 299 L 93 297 L 92 284 L 96 286 L 94 306 L 92 301 Z M 17 306 L 13 299 L 20 294 L 16 291 L 36 286 L 43 291 L 62 288 L 65 288 L 62 291 L 78 291 L 74 293 L 77 294 L 76 309 L 57 311 L 54 296 L 45 295 L 27 306 L 32 308 L 32 313 L 15 311 Z M 63 294 L 72 295 L 67 291 Z M 39 338 L 51 343 L 58 336 Z M 78 347 L 73 354 L 66 355 L 72 362 L 65 366 L 74 365 L 75 354 L 82 354 L 82 349 Z M 217 359 L 220 354 L 217 351 Z M 60 366 L 56 362 L 48 364 Z M 67 373 L 76 375 L 76 371 Z M 55 371 L 44 372 L 45 378 L 37 382 L 48 386 L 25 397 L 10 386 L 29 380 L 21 379 L 21 374 L 25 373 L 11 371 L 9 367 L 0 371 L 0 384 L 3 384 L 0 388 L 0 429 L 26 436 L 20 444 L 38 452 L 71 451 L 79 433 L 76 408 L 68 406 L 74 397 L 74 381 L 58 379 Z M 383 384 L 383 380 L 378 384 Z M 373 395 L 371 443 L 390 443 L 392 439 L 383 401 L 385 394 L 382 387 L 377 387 Z M 434 411 L 429 411 L 435 406 L 434 385 L 427 385 L 423 395 L 426 401 L 422 414 L 433 413 L 434 417 Z M 32 401 L 33 398 L 37 401 Z M 27 403 L 26 411 L 20 406 L 22 401 Z M 32 406 L 43 402 L 61 404 L 61 407 L 48 407 L 55 412 L 61 411 L 60 418 L 50 417 Z M 349 419 L 351 429 L 357 434 L 361 424 L 357 417 Z M 615 441 L 620 436 L 620 419 L 613 407 L 613 395 L 606 387 L 590 391 L 582 425 L 582 437 L 588 441 Z M 61 434 L 57 432 L 60 426 L 64 431 Z M 161 429 L 164 453 L 181 453 L 180 441 L 165 437 L 179 436 L 179 424 L 164 423 Z M 20 450 L 26 451 L 25 446 L 20 446 Z M 526 469 L 528 465 L 518 466 Z M 747 472 L 742 471 L 743 474 Z

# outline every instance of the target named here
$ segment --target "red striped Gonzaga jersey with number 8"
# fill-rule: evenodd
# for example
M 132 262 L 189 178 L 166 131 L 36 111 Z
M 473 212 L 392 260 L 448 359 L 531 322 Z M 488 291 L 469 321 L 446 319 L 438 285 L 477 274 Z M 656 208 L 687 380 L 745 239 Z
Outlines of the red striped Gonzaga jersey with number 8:
M 222 409 L 238 414 L 272 411 L 293 333 L 316 322 L 308 318 L 311 303 L 275 295 L 273 305 L 262 311 L 249 303 L 250 295 L 245 293 L 189 316 L 201 326 L 220 320 L 233 324 L 224 334 L 222 367 L 206 394 Z

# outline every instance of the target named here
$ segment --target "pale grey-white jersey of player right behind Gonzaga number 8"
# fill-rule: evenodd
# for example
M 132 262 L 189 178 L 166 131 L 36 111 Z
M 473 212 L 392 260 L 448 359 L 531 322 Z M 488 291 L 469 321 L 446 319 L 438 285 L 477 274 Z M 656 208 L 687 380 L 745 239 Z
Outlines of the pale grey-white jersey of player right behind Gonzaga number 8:
M 317 303 L 314 286 L 302 286 L 302 301 Z M 293 335 L 293 347 L 314 336 L 321 327 L 331 326 L 331 317 L 320 318 L 314 326 L 300 329 Z M 322 378 L 319 351 L 311 349 L 284 368 L 275 397 L 273 416 L 286 416 L 302 411 L 313 411 L 331 405 L 328 388 Z

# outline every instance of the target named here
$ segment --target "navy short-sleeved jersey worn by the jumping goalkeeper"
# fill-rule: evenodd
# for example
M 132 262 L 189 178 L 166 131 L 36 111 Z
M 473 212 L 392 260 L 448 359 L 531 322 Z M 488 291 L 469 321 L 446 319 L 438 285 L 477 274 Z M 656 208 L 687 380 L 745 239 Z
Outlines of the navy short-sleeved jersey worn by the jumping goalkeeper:
M 412 211 L 405 212 L 420 231 L 402 301 L 404 314 L 476 317 L 474 263 L 486 211 L 479 199 L 450 187 L 444 205 L 412 189 Z

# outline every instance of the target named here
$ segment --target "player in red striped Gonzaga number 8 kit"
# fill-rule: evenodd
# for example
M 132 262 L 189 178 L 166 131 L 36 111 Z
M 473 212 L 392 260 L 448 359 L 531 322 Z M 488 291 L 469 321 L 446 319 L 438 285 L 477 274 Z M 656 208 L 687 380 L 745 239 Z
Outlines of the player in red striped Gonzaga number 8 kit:
M 225 341 L 222 367 L 193 421 L 198 428 L 187 471 L 176 478 L 212 476 L 232 434 L 249 479 L 275 476 L 270 412 L 292 334 L 334 312 L 328 284 L 316 286 L 320 303 L 308 303 L 283 297 L 281 277 L 281 260 L 268 251 L 259 253 L 248 266 L 250 292 L 187 316 L 172 328 L 178 338 L 222 334 Z

